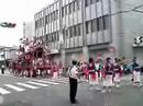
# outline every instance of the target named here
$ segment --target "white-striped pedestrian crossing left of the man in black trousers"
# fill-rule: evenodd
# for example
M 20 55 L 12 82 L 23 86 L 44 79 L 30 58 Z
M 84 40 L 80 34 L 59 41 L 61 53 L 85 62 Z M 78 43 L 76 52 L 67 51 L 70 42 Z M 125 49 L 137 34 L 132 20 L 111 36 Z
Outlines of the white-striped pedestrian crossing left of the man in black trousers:
M 0 86 L 0 94 L 7 95 L 15 92 L 24 92 L 30 90 L 38 90 L 51 85 L 68 84 L 68 79 L 30 79 L 25 82 L 15 82 L 13 84 L 6 83 Z

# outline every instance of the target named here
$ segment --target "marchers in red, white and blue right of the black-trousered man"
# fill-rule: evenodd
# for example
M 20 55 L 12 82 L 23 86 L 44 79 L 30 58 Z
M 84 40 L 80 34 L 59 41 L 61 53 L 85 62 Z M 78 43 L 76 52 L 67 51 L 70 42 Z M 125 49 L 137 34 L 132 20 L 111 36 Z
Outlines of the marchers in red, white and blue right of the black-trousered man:
M 125 58 L 106 58 L 94 60 L 94 58 L 89 58 L 88 62 L 79 63 L 77 62 L 77 71 L 78 79 L 82 78 L 84 80 L 89 82 L 89 90 L 100 90 L 102 93 L 111 92 L 111 87 L 121 87 L 122 76 L 124 71 L 127 70 Z M 70 71 L 70 67 L 68 69 L 68 73 Z M 132 59 L 131 63 L 131 73 L 133 85 L 141 86 L 141 66 L 138 63 L 136 58 Z M 76 75 L 75 75 L 76 76 Z M 70 78 L 70 76 L 69 76 Z

